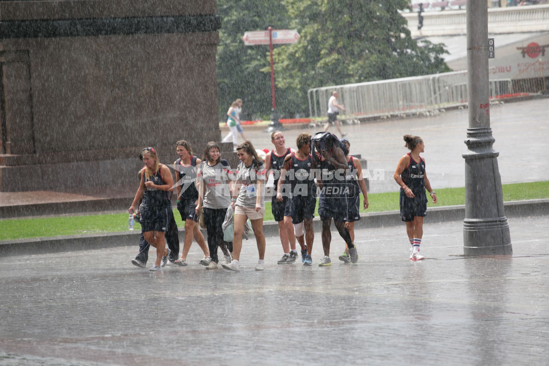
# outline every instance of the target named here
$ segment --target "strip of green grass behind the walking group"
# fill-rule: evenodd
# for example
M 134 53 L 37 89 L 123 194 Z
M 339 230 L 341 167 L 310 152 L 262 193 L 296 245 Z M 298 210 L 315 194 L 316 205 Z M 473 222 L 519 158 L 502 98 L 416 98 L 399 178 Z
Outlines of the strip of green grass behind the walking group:
M 428 207 L 452 206 L 465 204 L 465 188 L 437 189 L 438 203 Z M 549 198 L 549 181 L 503 184 L 503 200 L 518 201 Z M 362 200 L 362 196 L 361 196 Z M 399 210 L 399 192 L 368 195 L 369 208 L 361 212 L 380 212 Z M 362 201 L 361 201 L 362 202 Z M 265 202 L 265 221 L 272 221 L 271 202 Z M 181 215 L 173 210 L 178 227 L 183 227 Z M 315 216 L 318 216 L 318 201 Z M 0 240 L 57 237 L 92 233 L 122 232 L 128 228 L 128 215 L 116 213 L 110 215 L 61 216 L 31 219 L 0 220 Z M 141 230 L 136 222 L 135 230 Z

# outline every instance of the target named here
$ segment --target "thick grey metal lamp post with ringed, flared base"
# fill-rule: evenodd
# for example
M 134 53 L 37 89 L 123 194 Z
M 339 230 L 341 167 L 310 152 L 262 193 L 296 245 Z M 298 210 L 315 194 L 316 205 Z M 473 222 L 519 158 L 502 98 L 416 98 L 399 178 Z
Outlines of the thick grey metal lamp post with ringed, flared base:
M 503 207 L 499 153 L 490 128 L 488 76 L 488 4 L 467 0 L 467 97 L 469 128 L 465 143 L 465 255 L 512 254 Z

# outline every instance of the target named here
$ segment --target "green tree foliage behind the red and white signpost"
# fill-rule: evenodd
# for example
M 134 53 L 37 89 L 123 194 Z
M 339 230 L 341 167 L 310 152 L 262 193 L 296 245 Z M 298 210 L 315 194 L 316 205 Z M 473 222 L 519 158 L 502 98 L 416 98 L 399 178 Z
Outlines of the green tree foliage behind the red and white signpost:
M 217 50 L 219 102 L 244 99 L 245 109 L 268 114 L 271 109 L 268 48 L 244 46 L 245 31 L 297 29 L 298 43 L 273 52 L 277 110 L 305 114 L 307 90 L 388 78 L 450 71 L 442 44 L 412 40 L 397 10 L 407 0 L 219 0 L 222 16 Z

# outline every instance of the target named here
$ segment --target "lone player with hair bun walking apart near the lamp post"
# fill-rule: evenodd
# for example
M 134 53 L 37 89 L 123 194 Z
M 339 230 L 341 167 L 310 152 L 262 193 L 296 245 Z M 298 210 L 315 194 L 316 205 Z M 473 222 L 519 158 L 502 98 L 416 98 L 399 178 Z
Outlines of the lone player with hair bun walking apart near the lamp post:
M 425 159 L 419 156 L 425 151 L 423 139 L 419 136 L 404 135 L 410 153 L 402 156 L 396 167 L 394 178 L 400 185 L 400 217 L 406 222 L 406 234 L 410 241 L 410 260 L 421 261 L 425 257 L 419 254 L 419 245 L 423 237 L 423 218 L 427 216 L 427 188 L 429 195 L 436 204 L 437 198 L 431 188 L 427 172 L 425 171 Z

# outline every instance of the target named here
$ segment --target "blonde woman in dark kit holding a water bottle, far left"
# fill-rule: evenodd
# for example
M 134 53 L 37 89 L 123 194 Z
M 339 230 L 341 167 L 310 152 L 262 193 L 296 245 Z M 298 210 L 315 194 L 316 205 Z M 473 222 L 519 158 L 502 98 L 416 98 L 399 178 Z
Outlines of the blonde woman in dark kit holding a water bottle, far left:
M 143 149 L 144 174 L 132 205 L 128 212 L 135 211 L 136 202 L 145 194 L 148 215 L 141 217 L 141 232 L 147 242 L 156 248 L 156 261 L 149 271 L 158 271 L 164 267 L 170 255 L 166 249 L 164 235 L 168 226 L 171 210 L 170 194 L 173 190 L 173 178 L 167 166 L 160 164 L 153 148 Z

